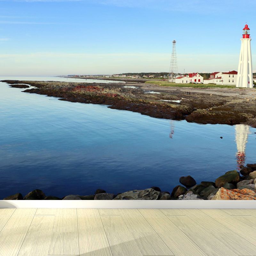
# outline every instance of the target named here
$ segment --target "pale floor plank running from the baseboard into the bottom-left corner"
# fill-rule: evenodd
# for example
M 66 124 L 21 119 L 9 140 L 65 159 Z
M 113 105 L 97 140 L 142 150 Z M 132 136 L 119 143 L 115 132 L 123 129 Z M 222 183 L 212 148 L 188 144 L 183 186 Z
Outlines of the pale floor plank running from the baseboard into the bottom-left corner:
M 0 256 L 16 256 L 36 209 L 16 209 L 0 232 Z

